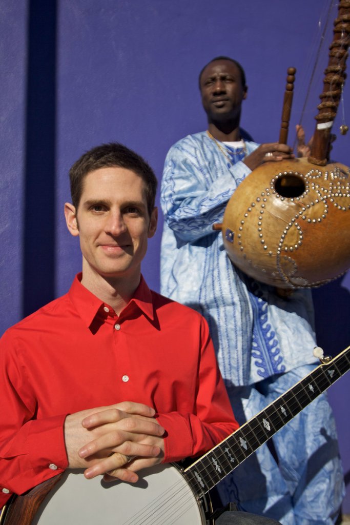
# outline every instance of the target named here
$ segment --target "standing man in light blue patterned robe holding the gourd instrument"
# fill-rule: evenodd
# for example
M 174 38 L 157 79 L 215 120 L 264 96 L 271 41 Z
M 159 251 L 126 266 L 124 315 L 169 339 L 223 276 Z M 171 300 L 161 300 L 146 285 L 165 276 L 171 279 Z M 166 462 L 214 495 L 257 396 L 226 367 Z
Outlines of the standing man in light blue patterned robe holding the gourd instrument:
M 313 370 L 310 290 L 281 298 L 235 268 L 213 231 L 240 182 L 264 162 L 291 158 L 285 144 L 256 144 L 240 129 L 242 66 L 216 57 L 200 72 L 206 131 L 169 150 L 161 204 L 161 292 L 204 315 L 240 424 Z M 252 196 L 253 198 L 253 196 Z M 258 228 L 258 224 L 257 224 Z M 283 525 L 333 523 L 344 495 L 335 423 L 325 395 L 263 445 L 226 484 L 225 500 Z

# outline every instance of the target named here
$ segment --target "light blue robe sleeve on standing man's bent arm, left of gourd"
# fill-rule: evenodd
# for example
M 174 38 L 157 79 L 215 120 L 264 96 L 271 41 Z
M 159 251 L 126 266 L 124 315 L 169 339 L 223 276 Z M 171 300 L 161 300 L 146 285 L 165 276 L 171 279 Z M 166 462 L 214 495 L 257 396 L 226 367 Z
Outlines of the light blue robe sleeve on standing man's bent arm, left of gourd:
M 241 161 L 233 166 L 211 164 L 205 150 L 190 138 L 176 143 L 166 156 L 161 205 L 167 225 L 180 242 L 213 234 L 213 224 L 222 222 L 227 202 L 251 171 Z M 209 176 L 208 170 L 215 170 L 216 177 Z

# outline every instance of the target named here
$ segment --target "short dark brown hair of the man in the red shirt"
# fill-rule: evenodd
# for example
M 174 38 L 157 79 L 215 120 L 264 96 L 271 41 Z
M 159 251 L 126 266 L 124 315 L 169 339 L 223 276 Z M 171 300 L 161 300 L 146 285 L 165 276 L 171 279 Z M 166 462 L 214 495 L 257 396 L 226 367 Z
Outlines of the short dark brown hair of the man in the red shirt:
M 137 153 L 119 142 L 110 142 L 92 148 L 84 153 L 69 170 L 72 204 L 78 210 L 84 178 L 92 171 L 102 167 L 123 167 L 139 175 L 145 183 L 147 210 L 151 217 L 157 178 L 149 164 Z

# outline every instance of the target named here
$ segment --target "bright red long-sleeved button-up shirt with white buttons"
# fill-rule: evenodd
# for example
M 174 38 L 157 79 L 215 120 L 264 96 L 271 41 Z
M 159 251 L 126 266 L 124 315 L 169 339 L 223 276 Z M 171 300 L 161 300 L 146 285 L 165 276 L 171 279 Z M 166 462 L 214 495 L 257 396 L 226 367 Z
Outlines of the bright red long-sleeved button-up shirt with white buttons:
M 116 316 L 80 279 L 0 341 L 0 508 L 67 467 L 69 413 L 153 406 L 166 429 L 164 462 L 202 454 L 238 427 L 197 312 L 141 278 Z

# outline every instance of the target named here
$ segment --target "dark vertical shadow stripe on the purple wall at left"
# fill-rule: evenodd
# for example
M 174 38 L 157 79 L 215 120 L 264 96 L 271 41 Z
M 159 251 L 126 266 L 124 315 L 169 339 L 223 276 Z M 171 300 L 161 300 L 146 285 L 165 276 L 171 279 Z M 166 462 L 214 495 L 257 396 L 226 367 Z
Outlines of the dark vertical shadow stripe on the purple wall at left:
M 23 317 L 55 296 L 56 0 L 30 0 Z

